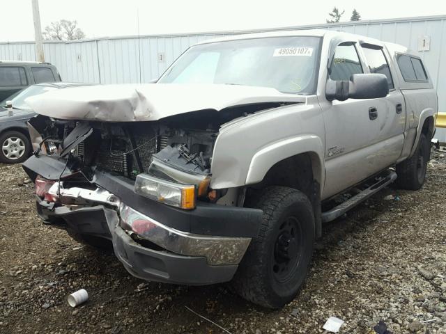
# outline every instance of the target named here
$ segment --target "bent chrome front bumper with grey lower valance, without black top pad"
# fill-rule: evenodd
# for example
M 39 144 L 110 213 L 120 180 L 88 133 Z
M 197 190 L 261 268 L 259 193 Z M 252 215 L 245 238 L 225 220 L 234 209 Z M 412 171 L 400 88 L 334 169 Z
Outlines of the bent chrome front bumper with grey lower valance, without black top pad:
M 111 240 L 125 269 L 146 280 L 187 285 L 226 282 L 251 241 L 249 237 L 211 237 L 170 228 L 123 204 L 105 189 L 64 189 L 55 182 L 49 193 L 63 205 L 49 209 L 38 203 L 45 221 L 57 221 L 59 228 L 76 234 Z M 157 247 L 147 247 L 144 241 Z

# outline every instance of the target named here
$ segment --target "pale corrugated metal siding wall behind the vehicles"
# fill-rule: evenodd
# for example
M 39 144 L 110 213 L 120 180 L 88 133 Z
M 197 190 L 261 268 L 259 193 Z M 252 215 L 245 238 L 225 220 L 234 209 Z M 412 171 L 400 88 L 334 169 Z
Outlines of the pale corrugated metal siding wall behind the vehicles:
M 187 47 L 210 38 L 272 30 L 335 29 L 409 47 L 423 59 L 438 90 L 439 110 L 446 111 L 446 16 L 293 26 L 256 31 L 223 31 L 184 35 L 100 38 L 80 42 L 45 42 L 45 59 L 64 81 L 102 84 L 144 83 L 156 79 Z M 417 51 L 418 38 L 431 38 L 429 51 Z M 164 61 L 158 55 L 164 55 Z M 0 59 L 35 61 L 33 42 L 0 43 Z M 443 74 L 443 75 L 442 75 Z M 446 129 L 438 129 L 446 141 Z

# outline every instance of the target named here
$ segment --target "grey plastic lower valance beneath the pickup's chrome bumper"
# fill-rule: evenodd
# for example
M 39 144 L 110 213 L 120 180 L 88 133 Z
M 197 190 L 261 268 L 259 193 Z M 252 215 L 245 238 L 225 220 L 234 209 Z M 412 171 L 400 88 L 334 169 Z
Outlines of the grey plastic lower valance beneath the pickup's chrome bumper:
M 43 210 L 40 213 L 47 216 L 47 210 L 40 209 Z M 53 214 L 63 219 L 67 229 L 110 239 L 118 260 L 137 278 L 163 283 L 209 285 L 231 280 L 238 267 L 236 264 L 213 266 L 203 256 L 178 255 L 141 246 L 118 226 L 117 212 L 102 205 L 79 209 L 57 207 Z

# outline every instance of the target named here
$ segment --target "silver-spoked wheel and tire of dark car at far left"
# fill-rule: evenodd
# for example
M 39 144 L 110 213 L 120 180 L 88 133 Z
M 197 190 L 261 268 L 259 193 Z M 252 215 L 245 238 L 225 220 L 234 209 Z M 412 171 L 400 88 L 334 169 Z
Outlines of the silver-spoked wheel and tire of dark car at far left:
M 9 146 L 6 146 L 7 143 Z M 13 155 L 8 157 L 8 154 Z M 31 142 L 22 132 L 8 131 L 0 134 L 0 162 L 19 164 L 28 159 L 29 154 L 31 154 Z

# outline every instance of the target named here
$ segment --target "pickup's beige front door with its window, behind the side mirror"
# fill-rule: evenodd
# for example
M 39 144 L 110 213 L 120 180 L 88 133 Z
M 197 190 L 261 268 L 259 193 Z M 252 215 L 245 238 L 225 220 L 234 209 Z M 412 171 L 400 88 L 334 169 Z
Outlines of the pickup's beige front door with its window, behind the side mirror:
M 357 44 L 357 41 L 349 41 L 337 45 L 328 70 L 330 79 L 349 80 L 352 74 L 369 73 Z M 383 141 L 380 136 L 391 109 L 387 97 L 345 101 L 322 99 L 325 199 L 390 166 L 401 150 L 392 151 L 397 146 L 392 142 L 394 138 Z

